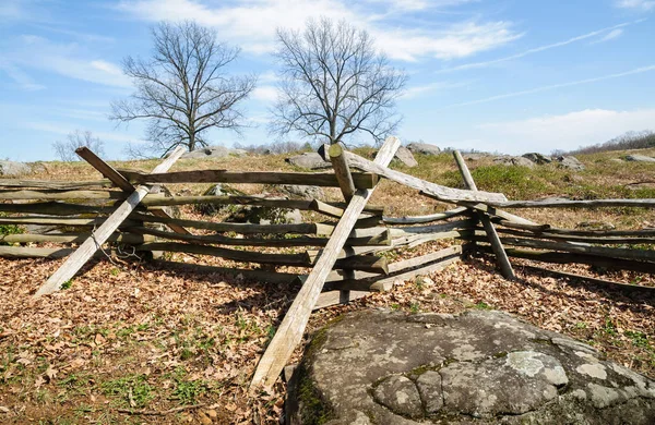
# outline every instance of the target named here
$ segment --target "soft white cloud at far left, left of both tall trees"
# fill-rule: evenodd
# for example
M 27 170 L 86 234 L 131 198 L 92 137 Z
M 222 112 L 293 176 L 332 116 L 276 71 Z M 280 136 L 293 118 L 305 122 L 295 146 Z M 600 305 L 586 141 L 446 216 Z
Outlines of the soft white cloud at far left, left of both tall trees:
M 26 35 L 19 37 L 12 47 L 5 62 L 15 69 L 43 70 L 91 83 L 130 87 L 130 80 L 120 68 L 102 59 L 90 59 L 93 53 L 78 44 L 58 44 Z

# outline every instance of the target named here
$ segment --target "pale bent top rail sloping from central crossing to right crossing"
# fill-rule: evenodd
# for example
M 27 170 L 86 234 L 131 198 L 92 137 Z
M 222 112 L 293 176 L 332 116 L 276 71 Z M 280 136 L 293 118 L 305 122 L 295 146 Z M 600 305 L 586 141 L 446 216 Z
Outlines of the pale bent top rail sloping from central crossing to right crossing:
M 421 193 L 428 194 L 434 197 L 438 201 L 448 202 L 448 203 L 458 203 L 458 202 L 504 202 L 508 198 L 501 193 L 489 193 L 489 192 L 474 192 L 474 191 L 463 191 L 460 189 L 452 189 L 442 186 L 436 183 L 430 183 L 428 181 L 415 178 L 414 175 L 405 174 L 400 171 L 391 170 L 388 167 L 383 167 L 377 165 L 374 162 L 369 161 L 366 158 L 362 158 L 353 153 L 346 151 L 346 157 L 348 158 L 348 163 L 352 167 L 358 168 L 364 171 L 373 172 L 376 174 L 380 174 L 389 180 L 392 180 L 396 183 L 404 184 L 406 186 L 416 189 Z

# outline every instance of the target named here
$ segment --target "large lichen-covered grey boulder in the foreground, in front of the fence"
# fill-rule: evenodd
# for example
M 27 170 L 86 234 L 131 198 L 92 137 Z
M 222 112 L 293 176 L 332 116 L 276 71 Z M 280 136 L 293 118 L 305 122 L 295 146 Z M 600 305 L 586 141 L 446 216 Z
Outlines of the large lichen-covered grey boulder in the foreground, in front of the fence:
M 655 381 L 502 312 L 377 309 L 317 332 L 287 406 L 287 424 L 652 424 Z

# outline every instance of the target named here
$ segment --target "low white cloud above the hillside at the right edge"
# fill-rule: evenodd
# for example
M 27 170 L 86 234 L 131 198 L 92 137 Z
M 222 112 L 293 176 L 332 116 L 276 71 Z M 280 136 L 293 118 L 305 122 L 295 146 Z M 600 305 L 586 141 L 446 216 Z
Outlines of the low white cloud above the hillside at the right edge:
M 478 130 L 485 134 L 487 148 L 493 145 L 500 151 L 521 154 L 529 146 L 532 151 L 548 154 L 553 149 L 571 150 L 603 143 L 628 131 L 655 130 L 655 109 L 585 109 L 560 116 L 487 123 Z

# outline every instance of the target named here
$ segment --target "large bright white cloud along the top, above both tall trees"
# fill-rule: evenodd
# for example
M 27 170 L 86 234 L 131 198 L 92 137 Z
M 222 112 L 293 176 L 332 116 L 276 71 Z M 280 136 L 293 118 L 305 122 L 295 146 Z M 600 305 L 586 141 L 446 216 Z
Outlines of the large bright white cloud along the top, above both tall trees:
M 456 5 L 462 0 L 439 1 Z M 402 2 L 380 2 L 393 9 Z M 433 4 L 412 0 L 404 9 L 420 9 Z M 216 4 L 216 3 L 214 3 Z M 369 4 L 370 7 L 370 4 Z M 493 49 L 516 38 L 508 22 L 463 22 L 441 31 L 385 25 L 382 5 L 362 9 L 346 0 L 241 0 L 226 5 L 210 7 L 198 0 L 121 0 L 118 9 L 132 16 L 151 22 L 195 20 L 215 27 L 221 37 L 253 53 L 270 52 L 275 48 L 275 29 L 301 28 L 308 19 L 326 16 L 346 20 L 369 31 L 378 46 L 391 58 L 415 61 L 421 57 L 439 59 L 464 58 Z

